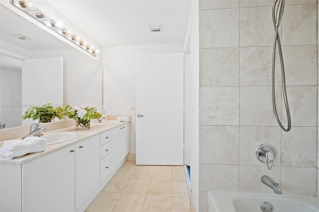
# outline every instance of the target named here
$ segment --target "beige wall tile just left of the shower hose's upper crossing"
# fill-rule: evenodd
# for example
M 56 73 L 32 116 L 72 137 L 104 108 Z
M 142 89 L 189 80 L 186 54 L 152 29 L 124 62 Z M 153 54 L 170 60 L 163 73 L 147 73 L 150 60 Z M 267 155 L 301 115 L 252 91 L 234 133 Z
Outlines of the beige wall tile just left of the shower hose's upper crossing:
M 272 46 L 274 25 L 272 7 L 240 8 L 240 46 Z

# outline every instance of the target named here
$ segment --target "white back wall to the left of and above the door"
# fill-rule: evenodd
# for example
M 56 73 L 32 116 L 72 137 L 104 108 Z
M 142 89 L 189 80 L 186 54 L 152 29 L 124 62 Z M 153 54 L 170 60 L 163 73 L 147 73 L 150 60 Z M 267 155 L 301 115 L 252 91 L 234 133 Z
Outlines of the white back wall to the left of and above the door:
M 182 53 L 183 44 L 115 46 L 103 48 L 104 110 L 109 115 L 131 115 L 130 153 L 135 153 L 135 55 Z

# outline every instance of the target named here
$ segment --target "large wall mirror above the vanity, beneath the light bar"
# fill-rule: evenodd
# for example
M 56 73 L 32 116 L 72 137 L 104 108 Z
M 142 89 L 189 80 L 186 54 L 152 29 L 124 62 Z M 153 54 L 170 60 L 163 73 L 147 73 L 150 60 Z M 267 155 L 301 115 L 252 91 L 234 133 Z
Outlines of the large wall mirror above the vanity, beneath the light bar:
M 48 102 L 92 106 L 102 113 L 102 63 L 3 5 L 0 27 L 0 123 L 5 128 L 36 123 L 22 121 L 22 114 Z

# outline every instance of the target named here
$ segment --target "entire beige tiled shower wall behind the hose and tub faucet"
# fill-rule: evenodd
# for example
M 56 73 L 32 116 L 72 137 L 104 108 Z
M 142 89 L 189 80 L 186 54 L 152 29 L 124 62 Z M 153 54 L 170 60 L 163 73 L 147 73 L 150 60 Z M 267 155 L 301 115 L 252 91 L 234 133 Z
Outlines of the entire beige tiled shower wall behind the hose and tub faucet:
M 273 114 L 273 0 L 199 0 L 199 208 L 208 191 L 267 193 L 263 175 L 287 195 L 317 195 L 317 0 L 286 0 L 280 26 L 292 130 Z M 277 54 L 278 55 L 278 54 Z M 281 97 L 279 57 L 276 103 Z M 277 149 L 275 167 L 256 158 Z

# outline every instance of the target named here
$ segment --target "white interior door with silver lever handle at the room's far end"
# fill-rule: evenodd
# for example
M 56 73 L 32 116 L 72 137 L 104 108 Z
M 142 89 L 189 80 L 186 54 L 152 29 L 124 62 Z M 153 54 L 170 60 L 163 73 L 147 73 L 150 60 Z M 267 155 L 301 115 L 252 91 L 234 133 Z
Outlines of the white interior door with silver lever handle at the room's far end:
M 136 164 L 183 165 L 182 53 L 137 54 L 136 114 Z

